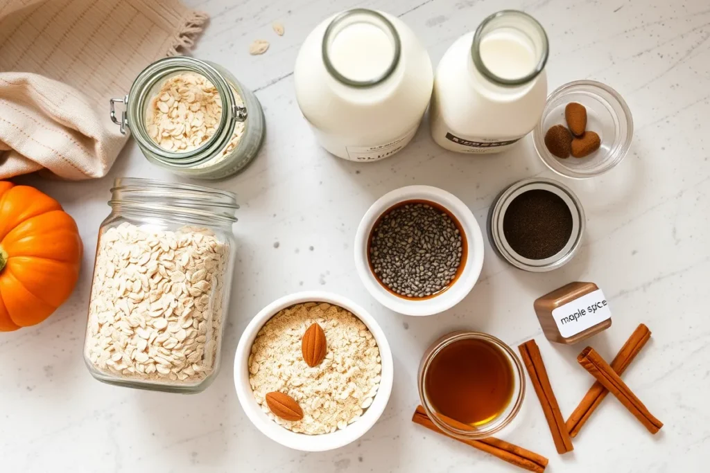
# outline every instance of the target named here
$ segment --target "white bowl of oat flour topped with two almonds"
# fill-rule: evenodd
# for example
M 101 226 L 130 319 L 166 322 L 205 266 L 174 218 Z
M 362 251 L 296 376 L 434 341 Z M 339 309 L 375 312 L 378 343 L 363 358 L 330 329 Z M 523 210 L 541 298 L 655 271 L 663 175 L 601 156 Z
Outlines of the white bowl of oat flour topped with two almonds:
M 272 302 L 236 348 L 234 383 L 246 416 L 295 450 L 332 450 L 360 438 L 383 413 L 392 380 L 392 353 L 375 319 L 324 291 Z

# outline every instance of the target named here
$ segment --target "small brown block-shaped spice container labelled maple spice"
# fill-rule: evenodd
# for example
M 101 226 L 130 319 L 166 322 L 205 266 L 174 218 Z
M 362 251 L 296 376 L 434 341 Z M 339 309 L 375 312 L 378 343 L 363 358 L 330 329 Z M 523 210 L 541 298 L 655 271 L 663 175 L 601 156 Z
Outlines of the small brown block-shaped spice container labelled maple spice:
M 551 342 L 572 345 L 611 327 L 608 302 L 593 282 L 570 282 L 538 298 L 534 306 Z

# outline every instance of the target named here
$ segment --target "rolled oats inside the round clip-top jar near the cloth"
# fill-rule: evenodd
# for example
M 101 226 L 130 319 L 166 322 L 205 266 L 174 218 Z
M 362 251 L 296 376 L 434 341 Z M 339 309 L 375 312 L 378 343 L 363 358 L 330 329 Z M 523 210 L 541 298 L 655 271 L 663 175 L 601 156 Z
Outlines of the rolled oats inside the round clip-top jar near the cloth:
M 237 106 L 244 106 L 239 93 L 232 88 Z M 222 99 L 207 77 L 195 72 L 182 72 L 165 79 L 146 113 L 146 128 L 153 142 L 164 150 L 190 152 L 200 148 L 217 133 L 222 118 Z M 229 143 L 211 160 L 195 168 L 216 165 L 239 144 L 244 135 L 244 122 L 234 124 Z

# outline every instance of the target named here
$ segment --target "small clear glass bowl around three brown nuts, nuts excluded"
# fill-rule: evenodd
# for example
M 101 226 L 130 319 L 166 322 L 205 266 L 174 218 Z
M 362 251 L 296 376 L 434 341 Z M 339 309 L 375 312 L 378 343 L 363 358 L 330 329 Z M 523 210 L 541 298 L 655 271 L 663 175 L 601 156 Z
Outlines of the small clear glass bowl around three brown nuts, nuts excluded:
M 586 130 L 601 138 L 599 150 L 585 157 L 552 155 L 545 145 L 545 133 L 555 125 L 567 126 L 564 107 L 577 102 L 586 108 Z M 542 118 L 532 130 L 532 143 L 542 162 L 557 174 L 572 179 L 599 176 L 616 167 L 631 147 L 633 116 L 621 94 L 606 84 L 578 80 L 559 87 L 547 97 Z

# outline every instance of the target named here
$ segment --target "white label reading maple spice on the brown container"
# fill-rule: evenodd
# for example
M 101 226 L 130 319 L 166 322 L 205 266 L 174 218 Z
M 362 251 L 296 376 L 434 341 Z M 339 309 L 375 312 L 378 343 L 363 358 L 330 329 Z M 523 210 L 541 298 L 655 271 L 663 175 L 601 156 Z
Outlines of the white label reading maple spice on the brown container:
M 562 306 L 552 309 L 559 334 L 564 338 L 577 335 L 587 328 L 611 318 L 611 311 L 601 289 L 590 292 Z

